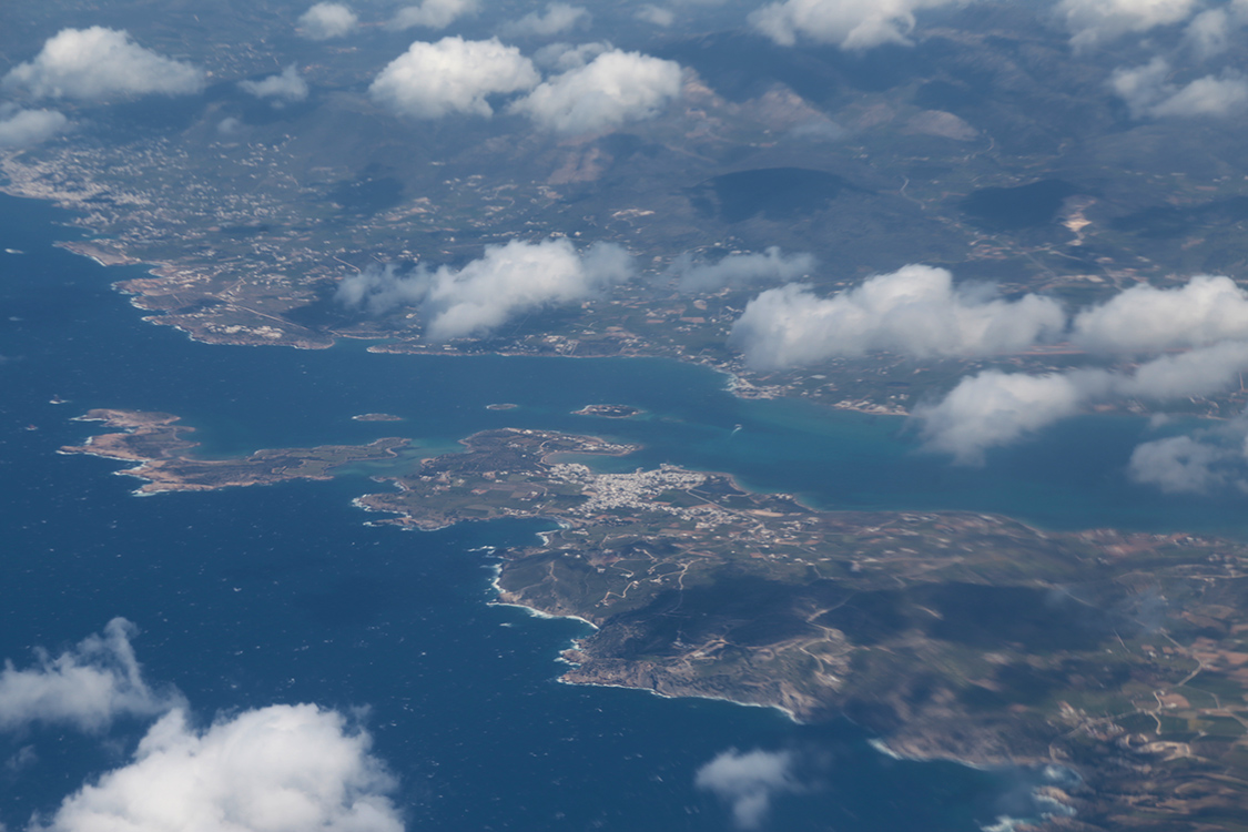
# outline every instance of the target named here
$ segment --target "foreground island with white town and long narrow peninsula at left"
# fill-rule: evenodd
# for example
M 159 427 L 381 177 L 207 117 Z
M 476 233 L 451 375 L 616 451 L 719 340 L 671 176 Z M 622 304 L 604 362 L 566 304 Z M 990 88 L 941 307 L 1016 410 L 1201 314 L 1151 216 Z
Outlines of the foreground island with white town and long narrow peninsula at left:
M 547 518 L 499 554 L 499 601 L 594 631 L 569 682 L 845 713 L 905 756 L 1061 763 L 1065 828 L 1239 828 L 1248 805 L 1248 546 L 1186 534 L 1052 533 L 968 513 L 815 511 L 723 474 L 600 474 L 633 447 L 487 430 L 193 455 L 165 413 L 91 410 L 112 433 L 62 453 L 135 463 L 141 494 L 329 479 L 393 463 L 357 498 L 376 523 Z

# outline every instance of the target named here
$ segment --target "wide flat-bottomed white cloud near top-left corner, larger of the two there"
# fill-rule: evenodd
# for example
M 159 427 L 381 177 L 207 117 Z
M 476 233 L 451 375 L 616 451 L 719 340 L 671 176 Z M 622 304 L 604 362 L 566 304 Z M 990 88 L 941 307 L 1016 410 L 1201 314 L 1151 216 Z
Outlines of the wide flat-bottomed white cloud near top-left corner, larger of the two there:
M 107 100 L 119 96 L 185 95 L 203 89 L 203 71 L 144 49 L 125 30 L 62 29 L 34 60 L 19 64 L 4 86 L 36 99 Z

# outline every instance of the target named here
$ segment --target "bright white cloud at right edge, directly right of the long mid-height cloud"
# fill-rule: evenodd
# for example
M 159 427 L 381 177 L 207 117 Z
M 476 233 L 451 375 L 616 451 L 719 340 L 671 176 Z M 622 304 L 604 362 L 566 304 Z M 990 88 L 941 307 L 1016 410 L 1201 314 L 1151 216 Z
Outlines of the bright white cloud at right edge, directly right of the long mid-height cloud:
M 1099 352 L 1162 352 L 1248 339 L 1248 292 L 1199 274 L 1181 287 L 1133 286 L 1075 316 L 1071 341 Z

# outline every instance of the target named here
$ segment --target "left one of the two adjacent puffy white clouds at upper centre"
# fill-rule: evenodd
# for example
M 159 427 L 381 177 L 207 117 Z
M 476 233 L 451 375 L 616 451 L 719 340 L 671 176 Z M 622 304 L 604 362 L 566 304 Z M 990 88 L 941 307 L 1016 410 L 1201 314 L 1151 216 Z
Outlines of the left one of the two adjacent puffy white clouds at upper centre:
M 449 112 L 490 116 L 487 96 L 533 89 L 533 62 L 497 37 L 416 41 L 377 75 L 368 94 L 398 115 L 441 119 Z

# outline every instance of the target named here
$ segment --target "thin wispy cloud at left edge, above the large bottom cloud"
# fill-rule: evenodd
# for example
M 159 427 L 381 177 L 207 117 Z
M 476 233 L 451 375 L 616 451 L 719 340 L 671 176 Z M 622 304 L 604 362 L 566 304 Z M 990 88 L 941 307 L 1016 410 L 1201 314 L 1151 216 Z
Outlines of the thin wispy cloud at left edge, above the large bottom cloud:
M 52 656 L 35 651 L 35 665 L 17 670 L 5 661 L 0 671 L 0 728 L 30 723 L 71 725 L 100 731 L 121 716 L 154 716 L 177 705 L 175 691 L 154 691 L 130 646 L 136 629 L 114 619 L 104 635 L 91 635 L 72 650 Z

